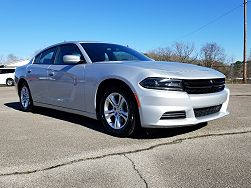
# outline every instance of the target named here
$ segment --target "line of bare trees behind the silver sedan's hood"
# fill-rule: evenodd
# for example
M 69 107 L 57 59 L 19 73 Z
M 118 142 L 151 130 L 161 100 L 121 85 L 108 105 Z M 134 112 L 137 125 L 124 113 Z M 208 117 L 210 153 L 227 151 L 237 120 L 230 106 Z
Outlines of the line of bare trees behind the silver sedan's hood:
M 149 51 L 146 55 L 158 61 L 178 61 L 214 68 L 228 79 L 242 77 L 243 63 L 228 59 L 224 48 L 215 42 L 204 44 L 199 51 L 196 51 L 193 43 L 175 42 L 171 46 Z

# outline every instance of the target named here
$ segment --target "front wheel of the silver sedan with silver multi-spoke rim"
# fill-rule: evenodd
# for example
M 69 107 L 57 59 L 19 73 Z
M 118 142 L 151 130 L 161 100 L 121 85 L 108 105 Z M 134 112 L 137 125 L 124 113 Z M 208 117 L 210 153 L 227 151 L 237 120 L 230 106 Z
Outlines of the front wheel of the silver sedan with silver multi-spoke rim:
M 100 101 L 100 118 L 107 131 L 128 137 L 136 131 L 137 106 L 125 89 L 108 88 Z

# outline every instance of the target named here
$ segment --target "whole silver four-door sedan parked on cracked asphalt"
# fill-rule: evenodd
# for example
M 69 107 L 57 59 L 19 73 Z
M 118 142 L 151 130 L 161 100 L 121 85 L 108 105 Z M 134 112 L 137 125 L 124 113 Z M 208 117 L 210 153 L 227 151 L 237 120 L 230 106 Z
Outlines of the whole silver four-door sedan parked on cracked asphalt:
M 158 62 L 128 47 L 64 42 L 15 72 L 24 111 L 42 106 L 99 119 L 116 136 L 139 127 L 194 125 L 228 114 L 225 76 L 210 68 Z

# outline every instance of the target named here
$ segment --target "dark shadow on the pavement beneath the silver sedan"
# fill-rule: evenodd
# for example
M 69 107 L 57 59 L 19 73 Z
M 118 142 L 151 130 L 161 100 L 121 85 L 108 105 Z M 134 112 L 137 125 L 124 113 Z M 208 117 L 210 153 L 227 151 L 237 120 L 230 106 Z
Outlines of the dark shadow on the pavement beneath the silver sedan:
M 5 103 L 4 105 L 14 110 L 22 111 L 22 108 L 19 102 Z M 97 121 L 88 117 L 84 117 L 81 115 L 71 114 L 67 112 L 62 112 L 62 111 L 53 110 L 49 108 L 42 108 L 42 107 L 36 107 L 32 113 L 71 122 L 71 123 L 81 125 L 86 128 L 101 132 L 103 134 L 108 134 L 100 121 Z M 158 129 L 140 128 L 130 138 L 132 139 L 158 139 L 158 138 L 174 137 L 177 135 L 186 134 L 189 132 L 199 130 L 205 127 L 206 125 L 207 123 L 200 123 L 193 126 L 178 127 L 178 128 L 158 128 Z

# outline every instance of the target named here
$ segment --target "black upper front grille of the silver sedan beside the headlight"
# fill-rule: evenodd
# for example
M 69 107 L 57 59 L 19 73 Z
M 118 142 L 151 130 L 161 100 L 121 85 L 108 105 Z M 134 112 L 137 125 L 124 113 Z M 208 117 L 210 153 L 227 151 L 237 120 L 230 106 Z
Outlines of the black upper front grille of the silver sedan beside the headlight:
M 183 88 L 188 94 L 215 93 L 225 88 L 225 78 L 183 80 Z

